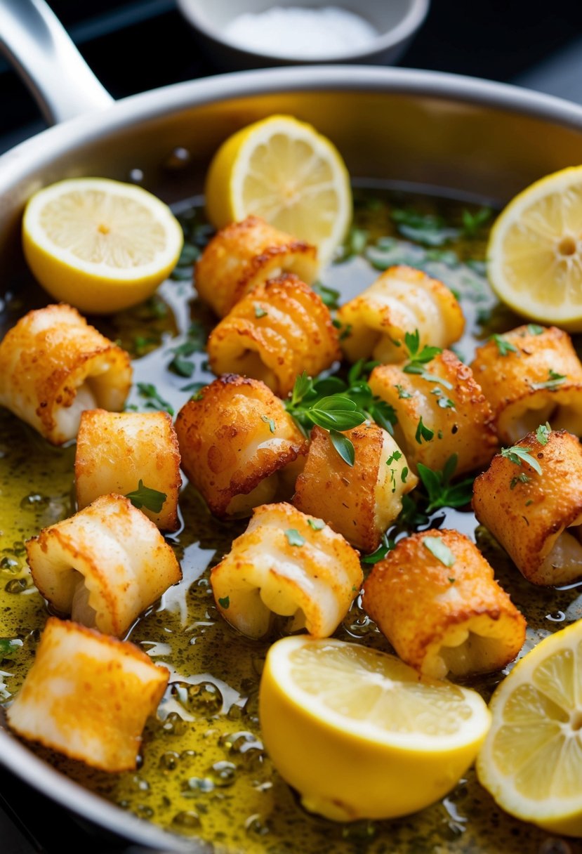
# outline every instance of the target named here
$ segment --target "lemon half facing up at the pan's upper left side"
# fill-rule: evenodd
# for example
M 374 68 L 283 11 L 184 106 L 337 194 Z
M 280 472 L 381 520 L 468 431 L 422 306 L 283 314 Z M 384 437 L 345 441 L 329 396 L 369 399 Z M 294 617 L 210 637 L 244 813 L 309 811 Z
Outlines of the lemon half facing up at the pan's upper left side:
M 183 233 L 156 196 L 108 178 L 70 178 L 26 205 L 22 243 L 55 299 L 110 313 L 151 295 L 176 265 Z

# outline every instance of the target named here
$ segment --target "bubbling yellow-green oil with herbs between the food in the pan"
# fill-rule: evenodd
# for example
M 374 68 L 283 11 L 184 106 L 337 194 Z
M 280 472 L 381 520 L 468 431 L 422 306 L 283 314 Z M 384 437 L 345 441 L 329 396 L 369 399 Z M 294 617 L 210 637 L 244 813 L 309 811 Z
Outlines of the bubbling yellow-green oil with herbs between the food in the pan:
M 172 280 L 143 306 L 94 321 L 134 357 L 128 408 L 178 412 L 200 384 L 212 380 L 204 353 L 212 316 L 193 298 L 190 284 L 192 264 L 212 231 L 201 200 L 184 203 L 178 214 L 187 242 Z M 469 361 L 477 342 L 519 323 L 498 305 L 486 283 L 491 219 L 492 212 L 475 204 L 402 190 L 358 189 L 354 226 L 340 258 L 325 273 L 320 293 L 330 304 L 338 298 L 335 291 L 346 301 L 388 266 L 422 266 L 461 301 L 467 331 L 455 350 Z M 39 290 L 26 287 L 26 306 L 7 295 L 5 328 L 27 308 L 46 304 Z M 8 412 L 0 412 L 0 703 L 17 693 L 47 616 L 26 568 L 24 541 L 74 512 L 73 459 L 74 447 L 50 447 Z M 302 810 L 260 740 L 260 673 L 267 648 L 283 627 L 276 626 L 264 641 L 238 635 L 218 616 L 208 580 L 209 568 L 229 551 L 246 522 L 219 523 L 190 486 L 183 489 L 180 509 L 182 528 L 169 540 L 181 561 L 183 582 L 170 588 L 129 635 L 172 674 L 158 717 L 148 722 L 139 768 L 106 775 L 32 746 L 35 752 L 123 809 L 177 834 L 212 842 L 217 852 L 544 851 L 547 834 L 498 810 L 472 770 L 441 803 L 398 821 L 342 825 Z M 416 525 L 457 528 L 476 538 L 527 617 L 527 647 L 582 617 L 578 588 L 533 588 L 477 528 L 471 513 L 440 510 L 430 519 L 417 518 Z M 358 601 L 336 634 L 389 650 Z M 471 684 L 488 699 L 502 676 Z

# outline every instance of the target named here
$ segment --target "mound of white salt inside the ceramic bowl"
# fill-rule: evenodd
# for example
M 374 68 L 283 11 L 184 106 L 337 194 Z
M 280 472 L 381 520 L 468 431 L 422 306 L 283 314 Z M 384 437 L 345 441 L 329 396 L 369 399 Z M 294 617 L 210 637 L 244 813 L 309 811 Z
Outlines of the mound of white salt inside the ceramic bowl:
M 238 47 L 287 59 L 327 59 L 365 48 L 378 31 L 347 9 L 275 6 L 230 21 L 224 35 Z

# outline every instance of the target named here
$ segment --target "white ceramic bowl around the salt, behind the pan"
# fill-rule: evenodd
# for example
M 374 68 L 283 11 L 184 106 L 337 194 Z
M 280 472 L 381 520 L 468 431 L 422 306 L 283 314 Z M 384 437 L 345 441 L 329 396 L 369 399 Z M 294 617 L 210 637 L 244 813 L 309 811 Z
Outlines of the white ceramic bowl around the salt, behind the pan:
M 416 30 L 422 25 L 430 0 L 178 0 L 178 8 L 194 27 L 201 47 L 217 68 L 239 69 L 271 67 L 274 65 L 305 65 L 323 62 L 378 63 L 387 65 L 398 60 Z M 285 52 L 253 50 L 237 43 L 225 34 L 231 20 L 250 13 L 257 15 L 273 7 L 324 7 L 346 9 L 368 20 L 378 35 L 358 49 L 330 54 L 322 49 L 321 56 L 294 55 L 294 34 L 288 39 Z

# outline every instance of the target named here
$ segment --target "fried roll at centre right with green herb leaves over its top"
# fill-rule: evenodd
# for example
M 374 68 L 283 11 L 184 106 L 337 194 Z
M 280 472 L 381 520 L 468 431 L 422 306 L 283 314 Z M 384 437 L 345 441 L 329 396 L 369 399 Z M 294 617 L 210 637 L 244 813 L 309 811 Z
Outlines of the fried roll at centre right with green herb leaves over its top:
M 344 436 L 355 450 L 352 466 L 341 459 L 327 430 L 311 430 L 293 503 L 304 513 L 321 516 L 352 546 L 373 552 L 402 510 L 402 496 L 415 488 L 418 479 L 393 437 L 376 424 L 362 424 Z

